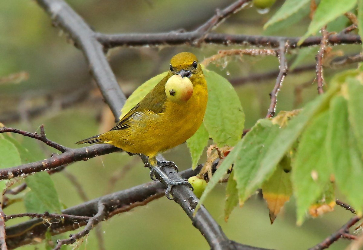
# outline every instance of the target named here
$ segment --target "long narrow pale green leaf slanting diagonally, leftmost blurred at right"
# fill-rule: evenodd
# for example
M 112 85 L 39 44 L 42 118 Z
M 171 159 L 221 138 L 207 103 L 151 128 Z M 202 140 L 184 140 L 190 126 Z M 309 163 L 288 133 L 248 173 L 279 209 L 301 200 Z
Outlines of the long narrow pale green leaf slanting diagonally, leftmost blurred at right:
M 281 129 L 280 133 L 269 147 L 267 153 L 264 155 L 264 159 L 261 160 L 261 166 L 264 166 L 265 169 L 275 167 L 285 153 L 296 142 L 307 123 L 309 123 L 316 114 L 328 108 L 331 97 L 337 93 L 339 88 L 340 85 L 331 86 L 325 94 L 319 95 L 308 103 L 297 116 L 291 118 L 289 124 Z

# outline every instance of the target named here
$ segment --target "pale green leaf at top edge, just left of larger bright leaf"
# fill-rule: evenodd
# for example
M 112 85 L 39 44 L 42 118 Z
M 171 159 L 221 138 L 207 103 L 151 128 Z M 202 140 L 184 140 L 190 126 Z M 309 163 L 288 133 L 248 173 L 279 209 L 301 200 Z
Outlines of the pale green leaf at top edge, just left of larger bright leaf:
M 275 13 L 275 15 L 273 15 L 270 20 L 266 22 L 264 29 L 276 22 L 280 22 L 292 15 L 295 15 L 309 3 L 310 0 L 286 0 L 285 3 L 282 4 L 281 8 Z

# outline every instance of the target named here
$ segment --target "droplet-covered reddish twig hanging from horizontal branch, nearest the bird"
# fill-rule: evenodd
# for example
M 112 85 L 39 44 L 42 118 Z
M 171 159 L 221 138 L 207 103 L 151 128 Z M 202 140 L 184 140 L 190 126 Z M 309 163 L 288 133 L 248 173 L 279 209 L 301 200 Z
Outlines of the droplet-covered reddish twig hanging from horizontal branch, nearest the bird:
M 271 118 L 275 115 L 276 111 L 276 104 L 277 104 L 277 94 L 278 91 L 280 91 L 282 81 L 284 81 L 284 78 L 287 74 L 287 62 L 286 62 L 286 56 L 285 56 L 285 50 L 286 50 L 286 44 L 281 41 L 280 47 L 278 50 L 278 60 L 280 62 L 280 72 L 278 73 L 275 86 L 273 90 L 270 93 L 271 103 L 269 110 L 267 112 L 266 118 Z

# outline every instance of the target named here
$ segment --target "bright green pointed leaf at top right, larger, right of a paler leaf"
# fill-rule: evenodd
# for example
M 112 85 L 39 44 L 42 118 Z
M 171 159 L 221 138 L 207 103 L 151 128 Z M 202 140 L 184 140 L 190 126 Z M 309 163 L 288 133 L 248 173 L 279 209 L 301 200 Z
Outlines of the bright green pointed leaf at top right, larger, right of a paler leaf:
M 340 15 L 350 11 L 355 7 L 357 0 L 321 0 L 318 5 L 313 20 L 307 32 L 298 42 L 300 45 L 307 37 L 319 31 L 323 26 L 335 20 Z

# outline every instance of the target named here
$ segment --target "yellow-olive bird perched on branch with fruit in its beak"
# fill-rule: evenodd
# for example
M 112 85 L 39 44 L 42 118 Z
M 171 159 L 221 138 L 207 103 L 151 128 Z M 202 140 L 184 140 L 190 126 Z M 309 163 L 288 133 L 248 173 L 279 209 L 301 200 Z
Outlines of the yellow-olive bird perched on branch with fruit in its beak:
M 158 162 L 156 155 L 195 134 L 203 122 L 207 100 L 207 82 L 196 56 L 179 53 L 171 58 L 168 74 L 115 127 L 77 144 L 108 143 L 126 152 L 146 155 L 159 173 L 158 167 L 175 165 Z M 168 184 L 180 183 L 170 180 Z

